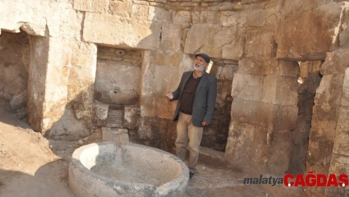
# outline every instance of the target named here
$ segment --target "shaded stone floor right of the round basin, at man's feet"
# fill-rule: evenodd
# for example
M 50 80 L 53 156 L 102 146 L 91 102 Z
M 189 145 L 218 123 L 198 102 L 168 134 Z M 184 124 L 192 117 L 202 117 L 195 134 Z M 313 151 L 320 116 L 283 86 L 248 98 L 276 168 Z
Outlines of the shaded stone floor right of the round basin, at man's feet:
M 202 147 L 197 170 L 199 173 L 189 180 L 185 197 L 302 197 L 301 188 L 287 188 L 244 184 L 244 178 L 259 177 L 254 169 L 228 169 L 223 163 L 223 153 Z M 263 177 L 283 177 L 283 175 L 263 174 Z

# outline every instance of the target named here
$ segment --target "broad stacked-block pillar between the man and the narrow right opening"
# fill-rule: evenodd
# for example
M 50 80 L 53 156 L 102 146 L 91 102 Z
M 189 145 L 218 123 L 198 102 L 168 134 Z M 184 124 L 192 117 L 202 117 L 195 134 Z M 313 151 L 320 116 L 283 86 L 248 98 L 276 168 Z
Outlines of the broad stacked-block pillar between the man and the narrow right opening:
M 299 65 L 274 58 L 271 29 L 250 30 L 246 40 L 245 56 L 233 78 L 225 157 L 234 165 L 284 173 L 298 113 Z

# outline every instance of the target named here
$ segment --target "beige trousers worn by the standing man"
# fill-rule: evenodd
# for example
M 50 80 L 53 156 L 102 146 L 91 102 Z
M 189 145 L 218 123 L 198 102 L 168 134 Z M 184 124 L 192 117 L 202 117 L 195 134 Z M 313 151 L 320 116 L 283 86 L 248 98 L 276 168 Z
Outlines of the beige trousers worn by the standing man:
M 177 122 L 177 139 L 175 141 L 175 152 L 178 158 L 184 161 L 187 146 L 189 145 L 188 167 L 196 173 L 196 163 L 198 162 L 200 143 L 203 136 L 204 127 L 196 127 L 192 123 L 192 116 L 179 112 Z M 189 144 L 188 144 L 189 142 Z

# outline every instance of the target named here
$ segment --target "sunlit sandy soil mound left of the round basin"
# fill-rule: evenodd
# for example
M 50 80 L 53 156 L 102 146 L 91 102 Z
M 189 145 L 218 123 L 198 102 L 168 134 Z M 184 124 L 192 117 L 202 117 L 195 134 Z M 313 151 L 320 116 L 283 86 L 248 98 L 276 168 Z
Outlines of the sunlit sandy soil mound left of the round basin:
M 24 111 L 11 112 L 0 101 L 0 197 L 73 197 L 68 185 L 71 153 L 101 136 L 48 140 L 31 129 Z

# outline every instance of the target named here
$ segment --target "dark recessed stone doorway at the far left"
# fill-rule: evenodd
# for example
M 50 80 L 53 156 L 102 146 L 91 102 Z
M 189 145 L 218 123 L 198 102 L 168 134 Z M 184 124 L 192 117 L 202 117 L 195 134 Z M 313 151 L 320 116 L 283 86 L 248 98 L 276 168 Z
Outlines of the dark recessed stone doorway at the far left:
M 27 87 L 30 65 L 30 37 L 20 33 L 0 35 L 0 101 L 26 117 Z

